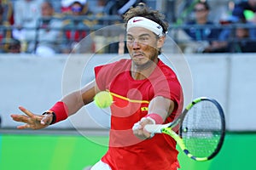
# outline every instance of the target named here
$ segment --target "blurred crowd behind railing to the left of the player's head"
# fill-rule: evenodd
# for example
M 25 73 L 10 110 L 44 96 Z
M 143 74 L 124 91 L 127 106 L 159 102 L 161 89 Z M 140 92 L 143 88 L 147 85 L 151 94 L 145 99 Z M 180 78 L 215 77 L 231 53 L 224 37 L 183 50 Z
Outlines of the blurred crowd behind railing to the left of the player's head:
M 105 41 L 106 37 L 91 32 L 121 23 L 122 14 L 143 1 L 93 2 L 96 6 L 91 9 L 90 0 L 0 0 L 0 52 L 44 56 L 118 52 L 119 43 L 99 47 L 96 41 Z M 102 19 L 104 16 L 109 17 Z M 108 37 L 118 37 L 117 33 Z

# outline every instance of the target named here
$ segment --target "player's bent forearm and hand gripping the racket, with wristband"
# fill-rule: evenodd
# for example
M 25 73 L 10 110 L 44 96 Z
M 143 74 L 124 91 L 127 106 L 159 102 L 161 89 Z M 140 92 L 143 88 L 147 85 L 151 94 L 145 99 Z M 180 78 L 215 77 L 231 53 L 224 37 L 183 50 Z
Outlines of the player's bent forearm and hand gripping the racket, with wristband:
M 162 124 L 174 110 L 175 103 L 171 99 L 157 96 L 148 105 L 148 115 L 144 116 L 132 127 L 133 133 L 139 139 L 148 139 L 150 133 L 143 130 L 146 124 Z

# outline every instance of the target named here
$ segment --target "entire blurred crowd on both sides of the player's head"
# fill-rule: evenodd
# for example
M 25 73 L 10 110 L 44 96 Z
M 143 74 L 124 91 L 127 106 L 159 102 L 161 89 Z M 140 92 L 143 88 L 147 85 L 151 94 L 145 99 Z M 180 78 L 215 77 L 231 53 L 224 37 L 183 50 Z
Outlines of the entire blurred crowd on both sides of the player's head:
M 147 0 L 0 0 L 0 53 L 124 53 L 122 31 L 92 32 L 122 23 L 122 14 L 141 2 Z M 230 1 L 217 21 L 208 1 L 188 2 L 186 20 L 169 31 L 184 53 L 256 52 L 256 0 Z M 109 38 L 113 43 L 102 45 Z

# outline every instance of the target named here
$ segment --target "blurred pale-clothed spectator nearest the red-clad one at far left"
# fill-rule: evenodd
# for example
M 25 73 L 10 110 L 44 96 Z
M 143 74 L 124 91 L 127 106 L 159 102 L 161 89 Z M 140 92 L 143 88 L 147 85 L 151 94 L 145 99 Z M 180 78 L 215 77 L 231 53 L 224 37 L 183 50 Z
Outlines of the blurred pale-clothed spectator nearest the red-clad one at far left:
M 32 52 L 33 46 L 27 43 L 35 40 L 36 25 L 41 17 L 40 5 L 43 0 L 17 0 L 15 1 L 14 16 L 15 30 L 13 36 L 20 40 L 24 52 Z M 32 43 L 29 43 L 31 45 Z

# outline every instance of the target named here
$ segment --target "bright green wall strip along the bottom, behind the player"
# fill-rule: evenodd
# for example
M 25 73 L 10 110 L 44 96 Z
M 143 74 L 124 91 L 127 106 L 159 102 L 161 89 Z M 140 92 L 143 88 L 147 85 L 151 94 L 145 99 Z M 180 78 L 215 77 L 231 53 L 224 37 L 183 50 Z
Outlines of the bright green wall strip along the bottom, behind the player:
M 90 137 L 107 142 L 108 137 Z M 228 133 L 221 152 L 212 161 L 196 162 L 179 154 L 181 170 L 256 169 L 256 133 Z M 1 170 L 82 170 L 94 164 L 108 148 L 79 135 L 2 134 Z

